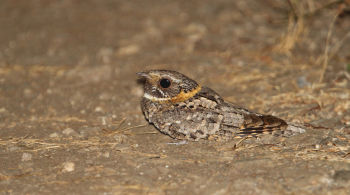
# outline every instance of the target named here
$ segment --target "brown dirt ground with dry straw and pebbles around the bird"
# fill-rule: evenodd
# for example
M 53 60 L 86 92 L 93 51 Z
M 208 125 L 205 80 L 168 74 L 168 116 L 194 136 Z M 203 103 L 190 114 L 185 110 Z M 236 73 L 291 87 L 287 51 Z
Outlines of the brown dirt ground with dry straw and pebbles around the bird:
M 0 194 L 349 194 L 350 9 L 335 0 L 0 2 Z M 136 72 L 308 127 L 181 142 Z

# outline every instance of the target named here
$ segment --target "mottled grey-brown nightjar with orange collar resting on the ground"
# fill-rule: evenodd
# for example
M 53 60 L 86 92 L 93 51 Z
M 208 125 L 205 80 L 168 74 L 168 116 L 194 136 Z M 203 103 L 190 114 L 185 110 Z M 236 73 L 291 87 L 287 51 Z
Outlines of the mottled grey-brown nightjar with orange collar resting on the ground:
M 305 132 L 300 125 L 227 102 L 211 88 L 177 71 L 137 74 L 144 87 L 141 109 L 146 120 L 174 139 L 198 141 Z

